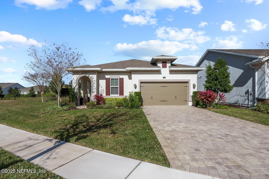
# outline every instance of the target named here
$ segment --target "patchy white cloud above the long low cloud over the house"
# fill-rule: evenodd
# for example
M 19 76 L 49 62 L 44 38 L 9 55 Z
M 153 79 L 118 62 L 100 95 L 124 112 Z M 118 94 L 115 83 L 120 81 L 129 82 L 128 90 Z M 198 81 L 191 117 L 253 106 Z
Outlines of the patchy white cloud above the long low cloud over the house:
M 204 31 L 194 31 L 192 28 L 183 28 L 179 30 L 175 27 L 160 27 L 156 30 L 158 38 L 169 39 L 172 41 L 183 41 L 186 43 L 204 43 L 210 40 L 204 36 Z

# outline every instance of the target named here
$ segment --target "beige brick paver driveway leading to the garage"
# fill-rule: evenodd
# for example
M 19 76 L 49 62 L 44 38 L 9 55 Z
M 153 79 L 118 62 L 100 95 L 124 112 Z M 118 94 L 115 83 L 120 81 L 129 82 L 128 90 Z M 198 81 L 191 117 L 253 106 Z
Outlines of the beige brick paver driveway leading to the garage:
M 220 178 L 269 178 L 269 126 L 193 106 L 143 110 L 172 168 Z

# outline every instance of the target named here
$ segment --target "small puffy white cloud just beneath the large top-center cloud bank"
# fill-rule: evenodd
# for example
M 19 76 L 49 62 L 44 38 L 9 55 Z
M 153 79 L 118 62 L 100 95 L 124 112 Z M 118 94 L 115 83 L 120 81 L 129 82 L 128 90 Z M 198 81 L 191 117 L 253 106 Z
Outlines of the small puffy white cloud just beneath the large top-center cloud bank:
M 130 16 L 129 14 L 125 14 L 122 17 L 122 20 L 128 24 L 131 25 L 152 25 L 152 24 L 157 24 L 157 19 L 152 19 L 150 18 L 151 15 L 147 16 Z

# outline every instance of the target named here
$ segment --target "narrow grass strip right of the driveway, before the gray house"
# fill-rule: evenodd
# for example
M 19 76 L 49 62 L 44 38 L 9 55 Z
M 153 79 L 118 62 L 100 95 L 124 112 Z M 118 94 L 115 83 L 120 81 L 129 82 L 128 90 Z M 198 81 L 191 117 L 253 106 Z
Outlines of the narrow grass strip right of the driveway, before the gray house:
M 210 111 L 269 126 L 269 115 L 245 108 L 209 109 Z

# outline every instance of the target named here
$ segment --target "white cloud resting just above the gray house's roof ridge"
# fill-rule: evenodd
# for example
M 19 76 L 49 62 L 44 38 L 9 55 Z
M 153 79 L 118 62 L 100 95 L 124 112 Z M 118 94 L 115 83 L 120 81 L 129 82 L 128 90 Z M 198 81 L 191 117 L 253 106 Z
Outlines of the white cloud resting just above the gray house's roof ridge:
M 217 43 L 213 44 L 211 49 L 242 49 L 243 43 L 245 43 L 238 41 L 234 35 L 226 37 L 224 40 L 221 37 L 217 37 L 215 40 Z

